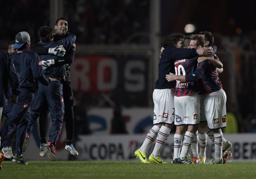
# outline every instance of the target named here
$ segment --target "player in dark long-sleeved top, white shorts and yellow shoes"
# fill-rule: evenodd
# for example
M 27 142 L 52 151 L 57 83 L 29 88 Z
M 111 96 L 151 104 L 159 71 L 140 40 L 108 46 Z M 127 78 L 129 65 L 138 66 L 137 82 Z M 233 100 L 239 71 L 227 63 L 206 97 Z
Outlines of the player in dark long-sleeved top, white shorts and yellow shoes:
M 160 152 L 168 138 L 174 121 L 174 87 L 175 82 L 168 83 L 165 79 L 166 74 L 174 72 L 174 61 L 180 58 L 190 58 L 200 55 L 209 55 L 209 49 L 182 49 L 184 36 L 174 34 L 170 36 L 160 55 L 158 64 L 158 80 L 153 92 L 154 100 L 154 126 L 148 132 L 142 146 L 135 151 L 135 157 L 139 158 L 142 163 L 149 163 L 146 153 L 148 148 L 156 140 L 156 145 L 149 157 L 152 163 L 164 163 L 160 158 Z

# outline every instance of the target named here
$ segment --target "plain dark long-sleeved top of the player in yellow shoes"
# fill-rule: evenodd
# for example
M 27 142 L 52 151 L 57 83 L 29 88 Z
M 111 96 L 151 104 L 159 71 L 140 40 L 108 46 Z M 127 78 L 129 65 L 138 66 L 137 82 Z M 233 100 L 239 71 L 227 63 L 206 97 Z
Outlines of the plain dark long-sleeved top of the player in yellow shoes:
M 176 82 L 168 82 L 166 75 L 174 72 L 174 61 L 182 58 L 192 58 L 197 56 L 196 49 L 176 48 L 173 46 L 164 46 L 164 51 L 161 54 L 158 64 L 158 80 L 156 81 L 155 89 L 175 88 Z

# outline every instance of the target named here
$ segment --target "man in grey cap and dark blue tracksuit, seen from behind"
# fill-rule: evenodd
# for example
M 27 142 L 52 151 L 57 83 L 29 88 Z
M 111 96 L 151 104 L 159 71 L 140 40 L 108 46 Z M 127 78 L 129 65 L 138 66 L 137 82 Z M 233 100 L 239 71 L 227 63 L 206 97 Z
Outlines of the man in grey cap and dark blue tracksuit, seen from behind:
M 18 72 L 21 93 L 18 95 L 17 103 L 13 105 L 12 111 L 4 123 L 0 136 L 2 143 L 0 149 L 6 152 L 9 140 L 19 125 L 18 138 L 16 139 L 16 151 L 12 161 L 20 164 L 28 164 L 22 156 L 22 144 L 26 136 L 26 129 L 30 119 L 30 105 L 34 99 L 34 92 L 38 90 L 38 81 L 48 86 L 50 79 L 47 79 L 42 70 L 41 60 L 35 52 L 30 51 L 30 35 L 28 32 L 19 32 L 15 37 L 14 48 L 18 50 L 11 56 L 12 62 Z

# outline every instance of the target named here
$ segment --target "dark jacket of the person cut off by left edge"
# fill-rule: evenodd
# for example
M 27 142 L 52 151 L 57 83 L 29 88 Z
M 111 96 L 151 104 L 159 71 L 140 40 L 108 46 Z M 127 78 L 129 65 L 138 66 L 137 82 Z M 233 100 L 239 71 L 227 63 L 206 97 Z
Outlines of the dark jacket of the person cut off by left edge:
M 10 85 L 8 87 L 8 85 Z M 7 104 L 8 89 L 12 89 L 12 95 L 20 94 L 20 80 L 9 54 L 0 52 L 0 107 Z M 12 87 L 12 88 L 10 88 Z

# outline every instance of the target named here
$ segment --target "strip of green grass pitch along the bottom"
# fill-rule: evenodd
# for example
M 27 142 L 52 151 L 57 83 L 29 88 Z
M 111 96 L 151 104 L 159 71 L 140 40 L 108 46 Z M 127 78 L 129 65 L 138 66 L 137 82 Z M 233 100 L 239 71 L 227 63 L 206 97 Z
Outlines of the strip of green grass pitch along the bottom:
M 143 164 L 139 161 L 4 161 L 0 179 L 255 179 L 256 162 Z

